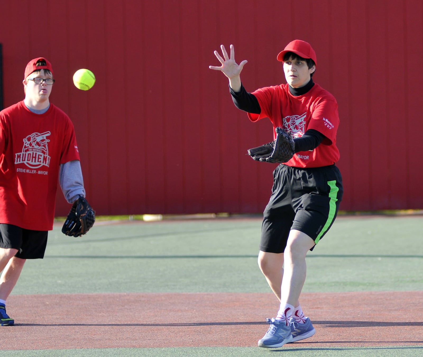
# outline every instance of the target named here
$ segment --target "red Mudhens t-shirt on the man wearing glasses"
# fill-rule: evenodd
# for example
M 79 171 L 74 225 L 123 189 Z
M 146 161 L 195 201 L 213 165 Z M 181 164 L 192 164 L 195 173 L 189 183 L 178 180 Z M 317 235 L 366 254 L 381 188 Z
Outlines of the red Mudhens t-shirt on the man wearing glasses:
M 0 223 L 52 230 L 60 164 L 80 160 L 74 126 L 50 103 L 34 114 L 23 101 L 0 112 Z

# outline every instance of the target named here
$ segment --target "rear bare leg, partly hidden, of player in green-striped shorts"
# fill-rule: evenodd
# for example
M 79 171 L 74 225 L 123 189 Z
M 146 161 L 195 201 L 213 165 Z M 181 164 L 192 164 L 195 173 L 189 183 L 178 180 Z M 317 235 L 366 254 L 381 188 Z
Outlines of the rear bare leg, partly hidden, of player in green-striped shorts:
M 258 252 L 258 266 L 265 276 L 270 289 L 280 301 L 280 287 L 283 276 L 283 253 Z

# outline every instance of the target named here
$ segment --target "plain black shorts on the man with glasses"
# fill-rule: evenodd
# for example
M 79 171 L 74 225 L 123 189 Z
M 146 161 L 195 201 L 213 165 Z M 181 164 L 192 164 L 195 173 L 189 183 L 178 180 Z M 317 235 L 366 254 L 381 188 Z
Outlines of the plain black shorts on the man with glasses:
M 47 246 L 47 230 L 24 229 L 0 223 L 0 248 L 13 248 L 21 259 L 42 259 Z

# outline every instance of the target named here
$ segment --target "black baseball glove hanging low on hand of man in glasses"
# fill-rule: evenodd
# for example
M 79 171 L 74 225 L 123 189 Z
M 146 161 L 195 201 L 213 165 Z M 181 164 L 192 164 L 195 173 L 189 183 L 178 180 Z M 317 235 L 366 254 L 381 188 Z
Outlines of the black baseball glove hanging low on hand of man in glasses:
M 90 230 L 96 221 L 96 212 L 84 197 L 80 196 L 72 205 L 71 211 L 62 227 L 62 233 L 80 237 Z

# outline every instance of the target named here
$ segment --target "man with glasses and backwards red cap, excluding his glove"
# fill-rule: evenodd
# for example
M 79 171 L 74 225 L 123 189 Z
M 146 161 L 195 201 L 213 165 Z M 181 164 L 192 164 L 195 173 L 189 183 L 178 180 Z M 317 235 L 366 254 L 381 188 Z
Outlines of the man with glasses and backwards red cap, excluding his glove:
M 47 59 L 28 62 L 25 99 L 0 112 L 0 325 L 14 325 L 5 302 L 26 259 L 42 259 L 53 228 L 59 181 L 67 202 L 85 197 L 74 126 L 49 102 Z

